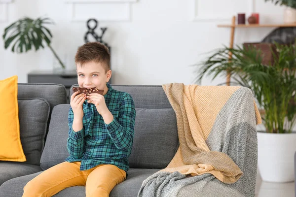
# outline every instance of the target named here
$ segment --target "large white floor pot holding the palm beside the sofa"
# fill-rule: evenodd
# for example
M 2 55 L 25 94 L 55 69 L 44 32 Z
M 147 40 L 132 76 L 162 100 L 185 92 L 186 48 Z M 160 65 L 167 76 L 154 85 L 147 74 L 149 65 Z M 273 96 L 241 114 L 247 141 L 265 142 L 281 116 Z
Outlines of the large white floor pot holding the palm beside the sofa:
M 263 181 L 292 182 L 296 133 L 257 132 L 258 168 Z

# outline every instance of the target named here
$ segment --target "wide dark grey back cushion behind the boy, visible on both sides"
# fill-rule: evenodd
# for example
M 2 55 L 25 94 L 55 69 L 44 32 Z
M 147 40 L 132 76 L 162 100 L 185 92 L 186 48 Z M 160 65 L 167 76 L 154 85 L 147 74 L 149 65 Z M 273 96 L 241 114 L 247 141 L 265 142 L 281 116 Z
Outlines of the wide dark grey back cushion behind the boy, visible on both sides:
M 40 166 L 43 170 L 65 161 L 70 104 L 54 107 Z M 177 121 L 171 109 L 136 108 L 135 136 L 129 166 L 164 168 L 178 148 Z

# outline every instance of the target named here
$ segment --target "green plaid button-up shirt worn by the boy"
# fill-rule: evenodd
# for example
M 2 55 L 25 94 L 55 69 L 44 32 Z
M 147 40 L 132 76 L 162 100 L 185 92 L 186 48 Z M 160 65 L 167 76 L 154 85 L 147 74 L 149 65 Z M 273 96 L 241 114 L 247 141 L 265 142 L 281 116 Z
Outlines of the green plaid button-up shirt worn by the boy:
M 110 124 L 105 124 L 94 104 L 85 101 L 83 128 L 75 132 L 72 129 L 74 115 L 70 107 L 67 143 L 70 156 L 65 161 L 81 161 L 80 170 L 99 164 L 113 164 L 127 172 L 134 138 L 135 105 L 128 93 L 116 91 L 109 84 L 107 87 L 104 98 L 114 117 Z

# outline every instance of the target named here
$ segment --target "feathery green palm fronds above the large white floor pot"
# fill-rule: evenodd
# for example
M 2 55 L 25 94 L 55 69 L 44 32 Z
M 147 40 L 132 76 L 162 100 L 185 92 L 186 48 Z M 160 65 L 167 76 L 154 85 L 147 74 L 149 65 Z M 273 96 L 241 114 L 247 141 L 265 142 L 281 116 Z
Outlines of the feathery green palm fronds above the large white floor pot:
M 266 131 L 291 133 L 296 124 L 296 46 L 276 46 L 278 54 L 274 54 L 273 65 L 263 65 L 260 51 L 255 48 L 237 46 L 218 50 L 199 65 L 196 82 L 200 83 L 206 74 L 212 74 L 214 79 L 229 71 L 231 85 L 250 88 L 259 107 L 265 110 L 262 120 Z

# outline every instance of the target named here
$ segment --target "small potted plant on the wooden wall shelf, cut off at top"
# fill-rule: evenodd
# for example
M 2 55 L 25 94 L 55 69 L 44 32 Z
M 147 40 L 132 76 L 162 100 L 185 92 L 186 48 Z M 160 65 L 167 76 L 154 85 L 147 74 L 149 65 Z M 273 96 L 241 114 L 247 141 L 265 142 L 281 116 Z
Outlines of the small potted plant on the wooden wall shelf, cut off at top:
M 295 0 L 265 0 L 275 3 L 275 5 L 285 5 L 284 23 L 296 23 L 296 1 Z

